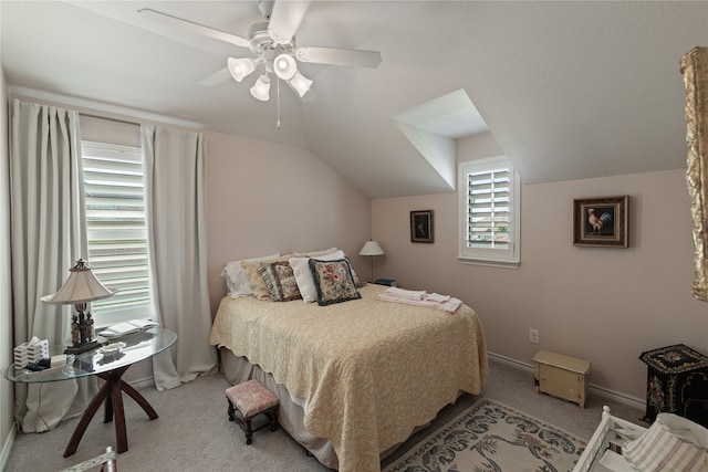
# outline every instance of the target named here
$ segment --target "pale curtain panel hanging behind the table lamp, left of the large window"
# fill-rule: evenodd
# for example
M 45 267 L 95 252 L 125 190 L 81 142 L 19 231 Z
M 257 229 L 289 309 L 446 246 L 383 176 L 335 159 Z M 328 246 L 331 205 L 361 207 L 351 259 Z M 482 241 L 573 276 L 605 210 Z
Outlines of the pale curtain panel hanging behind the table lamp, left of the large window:
M 37 336 L 65 345 L 71 306 L 40 297 L 86 255 L 79 114 L 15 98 L 11 129 L 14 344 Z M 95 392 L 94 378 L 15 384 L 15 418 L 24 432 L 46 431 L 81 413 Z

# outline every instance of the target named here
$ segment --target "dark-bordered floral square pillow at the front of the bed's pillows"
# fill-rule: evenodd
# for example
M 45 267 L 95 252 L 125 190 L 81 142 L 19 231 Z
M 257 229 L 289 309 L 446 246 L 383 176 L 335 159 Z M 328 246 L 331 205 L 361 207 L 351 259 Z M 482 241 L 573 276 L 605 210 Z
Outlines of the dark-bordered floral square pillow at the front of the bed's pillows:
M 362 297 L 356 291 L 348 260 L 321 261 L 310 259 L 308 264 L 317 292 L 317 305 L 332 305 L 333 303 Z

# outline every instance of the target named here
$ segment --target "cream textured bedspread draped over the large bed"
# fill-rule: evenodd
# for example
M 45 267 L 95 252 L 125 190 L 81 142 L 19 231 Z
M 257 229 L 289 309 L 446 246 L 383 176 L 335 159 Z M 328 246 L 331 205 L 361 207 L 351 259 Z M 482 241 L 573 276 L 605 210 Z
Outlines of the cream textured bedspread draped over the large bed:
M 477 314 L 363 298 L 330 306 L 221 301 L 210 343 L 271 373 L 306 401 L 304 426 L 329 439 L 342 472 L 379 471 L 379 453 L 487 382 Z

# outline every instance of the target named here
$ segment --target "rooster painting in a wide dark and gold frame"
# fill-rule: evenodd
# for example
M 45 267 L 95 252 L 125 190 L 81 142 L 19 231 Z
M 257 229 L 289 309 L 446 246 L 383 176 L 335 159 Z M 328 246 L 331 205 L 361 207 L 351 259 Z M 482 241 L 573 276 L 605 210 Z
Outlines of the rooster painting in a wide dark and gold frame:
M 573 245 L 627 248 L 629 196 L 573 199 Z

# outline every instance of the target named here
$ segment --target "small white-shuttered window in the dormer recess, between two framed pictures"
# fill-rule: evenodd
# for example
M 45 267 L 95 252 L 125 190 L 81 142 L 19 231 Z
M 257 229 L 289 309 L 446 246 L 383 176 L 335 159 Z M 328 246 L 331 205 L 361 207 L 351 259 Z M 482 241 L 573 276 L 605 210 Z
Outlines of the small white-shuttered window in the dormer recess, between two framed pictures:
M 520 182 L 506 157 L 459 164 L 459 259 L 518 266 Z

